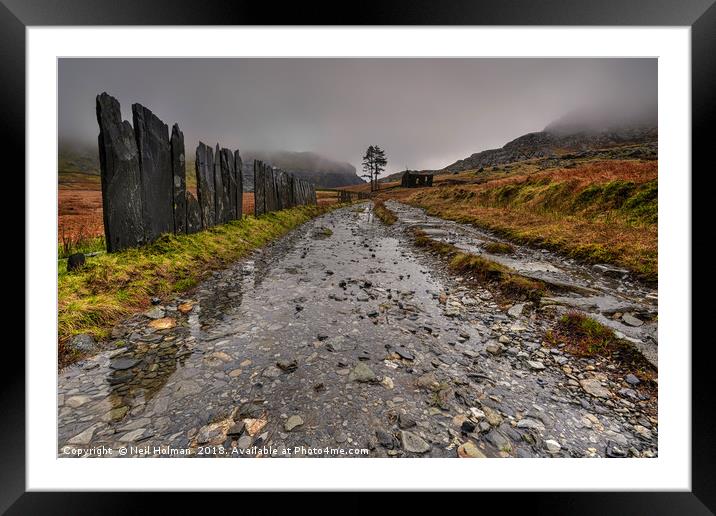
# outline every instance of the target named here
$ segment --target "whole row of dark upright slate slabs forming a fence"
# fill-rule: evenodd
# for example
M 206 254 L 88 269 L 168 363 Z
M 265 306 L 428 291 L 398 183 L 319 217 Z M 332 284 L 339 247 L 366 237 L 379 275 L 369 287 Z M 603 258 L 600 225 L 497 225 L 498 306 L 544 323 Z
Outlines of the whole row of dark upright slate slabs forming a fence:
M 141 104 L 130 124 L 117 99 L 97 96 L 102 208 L 107 251 L 153 242 L 164 233 L 191 234 L 240 219 L 243 162 L 238 150 L 196 148 L 197 196 L 186 188 L 184 134 Z M 308 181 L 254 162 L 256 215 L 316 204 Z

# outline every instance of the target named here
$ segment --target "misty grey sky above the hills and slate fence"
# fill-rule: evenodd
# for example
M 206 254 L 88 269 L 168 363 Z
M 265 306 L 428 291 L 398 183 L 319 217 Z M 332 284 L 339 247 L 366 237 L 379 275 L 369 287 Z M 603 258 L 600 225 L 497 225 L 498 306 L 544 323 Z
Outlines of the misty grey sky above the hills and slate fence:
M 59 138 L 96 143 L 95 96 L 139 102 L 199 140 L 314 151 L 387 173 L 438 169 L 569 112 L 649 106 L 656 59 L 60 59 Z M 619 109 L 617 107 L 617 109 Z

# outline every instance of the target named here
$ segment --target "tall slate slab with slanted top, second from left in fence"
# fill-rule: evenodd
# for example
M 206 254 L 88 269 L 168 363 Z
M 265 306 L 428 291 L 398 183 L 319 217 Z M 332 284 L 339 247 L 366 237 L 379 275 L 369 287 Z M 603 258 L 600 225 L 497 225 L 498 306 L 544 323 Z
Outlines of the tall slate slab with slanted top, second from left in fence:
M 174 199 L 169 127 L 141 104 L 132 104 L 142 180 L 144 233 L 148 242 L 174 232 Z

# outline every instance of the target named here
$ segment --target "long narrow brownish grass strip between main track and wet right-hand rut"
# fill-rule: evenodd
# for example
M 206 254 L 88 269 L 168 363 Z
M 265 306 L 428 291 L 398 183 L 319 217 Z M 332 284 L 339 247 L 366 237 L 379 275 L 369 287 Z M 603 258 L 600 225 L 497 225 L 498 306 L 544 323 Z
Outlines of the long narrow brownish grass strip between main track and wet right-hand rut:
M 526 278 L 509 267 L 482 256 L 466 253 L 452 244 L 433 240 L 420 229 L 413 230 L 413 235 L 417 246 L 431 249 L 447 258 L 451 269 L 492 283 L 505 294 L 533 301 L 538 301 L 544 295 L 546 286 L 540 281 Z

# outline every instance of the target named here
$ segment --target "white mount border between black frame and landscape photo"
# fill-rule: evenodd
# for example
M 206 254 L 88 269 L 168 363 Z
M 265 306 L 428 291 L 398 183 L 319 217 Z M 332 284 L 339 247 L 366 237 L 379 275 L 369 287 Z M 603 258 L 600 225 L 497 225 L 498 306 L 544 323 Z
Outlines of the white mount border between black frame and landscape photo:
M 589 460 L 57 459 L 58 56 L 490 56 L 659 58 L 659 457 Z M 28 490 L 689 490 L 690 29 L 28 28 Z M 125 99 L 129 102 L 131 99 Z M 10 443 L 6 443 L 10 445 Z M 19 443 L 18 443 L 19 444 Z M 187 462 L 190 461 L 190 462 Z

